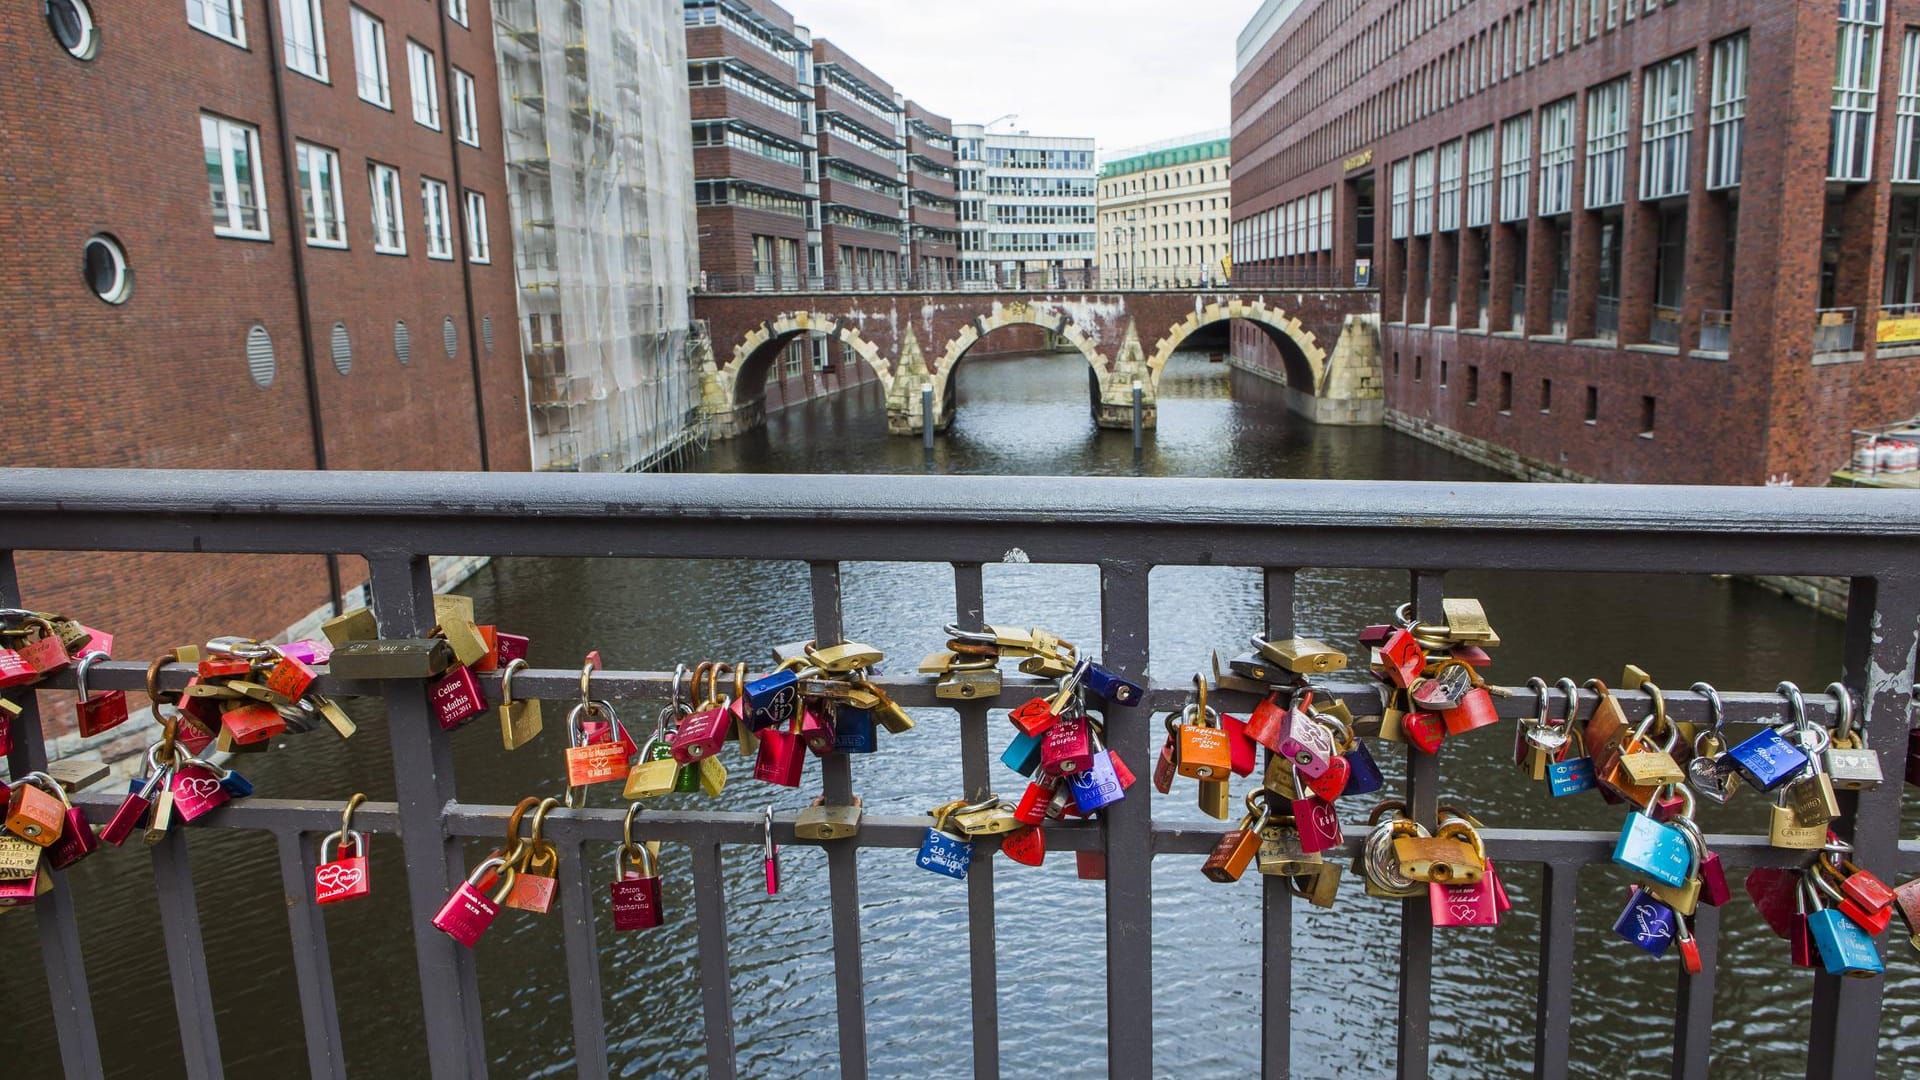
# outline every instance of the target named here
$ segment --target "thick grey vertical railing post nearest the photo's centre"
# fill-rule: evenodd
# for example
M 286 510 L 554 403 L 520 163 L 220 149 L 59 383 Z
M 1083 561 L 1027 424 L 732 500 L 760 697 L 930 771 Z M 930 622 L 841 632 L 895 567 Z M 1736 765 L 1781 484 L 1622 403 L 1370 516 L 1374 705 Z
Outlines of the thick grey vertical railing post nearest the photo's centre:
M 1146 680 L 1148 578 L 1144 561 L 1100 563 L 1100 663 Z M 1108 705 L 1106 740 L 1127 761 L 1150 763 L 1144 705 Z M 1144 767 L 1144 765 L 1142 765 Z M 1154 851 L 1152 801 L 1100 811 L 1106 838 L 1106 1070 L 1116 1080 L 1154 1074 Z

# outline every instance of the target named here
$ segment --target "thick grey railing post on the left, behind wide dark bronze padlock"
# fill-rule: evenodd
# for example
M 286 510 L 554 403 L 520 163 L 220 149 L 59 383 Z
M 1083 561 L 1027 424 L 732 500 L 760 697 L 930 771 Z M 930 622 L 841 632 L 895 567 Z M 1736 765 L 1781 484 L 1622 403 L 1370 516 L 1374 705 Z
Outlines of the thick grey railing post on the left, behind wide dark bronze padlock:
M 382 638 L 419 638 L 434 626 L 434 584 L 424 555 L 369 555 L 367 571 L 369 601 Z M 407 855 L 426 1059 L 434 1080 L 486 1076 L 480 976 L 472 949 L 432 924 L 434 913 L 467 878 L 461 842 L 445 828 L 445 809 L 455 796 L 451 746 L 432 717 L 424 684 L 390 680 L 382 698 L 394 744 L 394 792 Z

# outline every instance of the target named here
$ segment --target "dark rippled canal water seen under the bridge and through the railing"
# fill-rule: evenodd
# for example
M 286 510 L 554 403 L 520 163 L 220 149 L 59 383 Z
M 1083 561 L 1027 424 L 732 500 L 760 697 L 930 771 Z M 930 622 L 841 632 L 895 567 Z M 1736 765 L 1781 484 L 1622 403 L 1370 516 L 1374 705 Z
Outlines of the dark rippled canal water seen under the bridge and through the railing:
M 1498 480 L 1440 450 L 1382 429 L 1317 429 L 1286 413 L 1279 394 L 1254 379 L 1229 379 L 1204 357 L 1167 369 L 1160 430 L 1139 465 L 1127 432 L 1094 430 L 1087 415 L 1087 373 L 1077 356 L 973 359 L 958 373 L 960 411 L 939 440 L 933 471 L 1037 473 L 1071 484 L 1081 475 L 1169 477 L 1340 477 L 1398 480 Z M 776 415 L 762 432 L 718 444 L 705 467 L 766 473 L 922 473 L 918 440 L 885 434 L 876 386 Z M 849 498 L 858 488 L 849 486 Z M 778 544 L 778 538 L 774 538 Z M 895 671 L 941 648 L 952 609 L 943 565 L 849 567 L 845 619 L 854 640 L 893 657 Z M 991 565 L 985 569 L 993 621 L 1044 625 L 1068 640 L 1098 640 L 1098 582 L 1092 567 Z M 643 563 L 611 559 L 503 559 L 465 586 L 482 619 L 532 634 L 534 661 L 570 665 L 599 648 L 611 667 L 662 669 L 697 657 L 751 657 L 772 642 L 806 634 L 808 577 L 801 563 Z M 1478 596 L 1505 638 L 1496 653 L 1500 682 L 1526 675 L 1613 678 L 1626 661 L 1667 684 L 1707 678 L 1722 688 L 1768 688 L 1780 678 L 1826 686 L 1839 671 L 1841 628 L 1753 586 L 1707 577 L 1480 575 L 1450 578 L 1455 596 Z M 1382 619 L 1405 596 L 1405 575 L 1308 571 L 1298 586 L 1300 630 L 1352 651 L 1354 632 Z M 1188 678 L 1210 650 L 1229 650 L 1260 628 L 1254 571 L 1165 567 L 1152 578 L 1152 675 Z M 1008 705 L 1018 701 L 1008 701 Z M 626 703 L 639 724 L 657 701 Z M 250 776 L 275 798 L 338 799 L 355 788 L 392 799 L 390 757 L 378 707 L 355 703 L 371 721 L 359 738 L 298 740 L 288 751 L 248 761 Z M 551 792 L 559 773 L 557 709 L 549 732 L 518 753 L 501 753 L 490 723 L 455 738 L 459 796 L 513 803 Z M 1442 790 L 1496 826 L 1615 828 L 1619 811 L 1597 798 L 1549 799 L 1501 761 L 1505 734 L 1450 746 Z M 995 728 L 995 748 L 1004 730 Z M 1377 744 L 1390 778 L 1396 755 Z M 808 769 L 803 792 L 747 778 L 718 801 L 691 805 L 780 811 L 818 790 Z M 1144 765 L 1144 763 L 1137 763 Z M 1002 771 L 1002 794 L 1021 782 Z M 1246 782 L 1242 782 L 1244 786 Z M 950 713 L 924 711 L 920 726 L 885 738 L 881 751 L 854 759 L 854 790 L 877 813 L 920 813 L 960 794 L 958 730 Z M 1238 790 L 1238 788 L 1236 788 Z M 1135 790 L 1142 798 L 1146 786 Z M 609 805 L 599 796 L 595 805 Z M 1348 819 L 1359 813 L 1359 799 Z M 1167 821 L 1204 821 L 1192 784 L 1156 798 Z M 1707 809 L 1709 830 L 1761 830 L 1747 801 Z M 192 834 L 207 969 L 228 1070 L 294 1074 L 305 1068 L 286 944 L 286 899 L 273 842 L 248 834 Z M 470 847 L 470 861 L 482 846 Z M 595 855 L 609 859 L 609 855 Z M 603 863 L 605 865 L 605 863 Z M 1258 1065 L 1260 888 L 1206 882 L 1198 855 L 1169 855 L 1154 867 L 1156 1068 L 1162 1074 L 1244 1076 Z M 730 849 L 728 926 L 739 1067 L 747 1076 L 818 1074 L 835 1068 L 826 859 L 806 847 L 783 853 L 783 890 L 760 888 L 758 851 Z M 607 880 L 611 871 L 599 871 Z M 684 851 L 664 859 L 670 924 L 616 936 L 601 907 L 601 972 L 612 1063 L 622 1076 L 693 1074 L 703 1068 L 699 961 L 691 884 Z M 876 1076 L 964 1076 L 968 1059 L 966 888 L 912 867 L 908 851 L 862 851 L 866 905 L 866 1005 Z M 1517 1076 L 1530 1072 L 1540 876 L 1507 867 L 1513 911 L 1496 930 L 1436 934 L 1434 1074 Z M 173 999 L 152 899 L 152 871 L 129 851 L 108 851 L 69 874 L 79 897 L 94 1013 L 113 1076 L 180 1072 Z M 355 1076 L 419 1076 L 419 988 L 407 930 L 399 842 L 372 844 L 374 896 L 328 913 L 332 970 L 349 1068 Z M 1580 882 L 1576 942 L 1574 1074 L 1615 1076 L 1665 1070 L 1674 999 L 1672 961 L 1653 961 L 1609 932 L 1626 878 L 1596 867 Z M 1000 863 L 998 972 L 1000 1045 L 1008 1076 L 1043 1076 L 1064 1063 L 1096 1074 L 1106 1061 L 1104 926 L 1100 886 L 1081 882 L 1056 855 L 1041 869 Z M 1294 907 L 1294 1061 L 1302 1074 L 1348 1070 L 1388 1074 L 1394 1065 L 1398 911 L 1342 884 L 1340 903 Z M 58 1074 L 58 1051 L 33 919 L 0 919 L 8 1022 L 0 1059 L 8 1076 Z M 1920 1045 L 1912 1015 L 1912 955 L 1889 938 L 1893 978 L 1884 1026 L 1882 1074 L 1908 1072 Z M 1788 967 L 1745 899 L 1722 917 L 1715 1072 L 1788 1076 L 1803 1070 L 1811 978 Z M 480 947 L 488 1051 L 499 1076 L 570 1074 L 570 1019 L 559 920 L 505 913 Z M 1907 1005 L 1908 1009 L 1903 1009 Z

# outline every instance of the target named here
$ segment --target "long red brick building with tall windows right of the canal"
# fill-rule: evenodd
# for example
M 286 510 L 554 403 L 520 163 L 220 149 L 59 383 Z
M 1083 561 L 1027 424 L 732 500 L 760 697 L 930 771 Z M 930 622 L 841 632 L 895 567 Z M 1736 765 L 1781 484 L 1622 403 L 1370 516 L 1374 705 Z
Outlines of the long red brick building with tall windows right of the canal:
M 1371 273 L 1390 423 L 1824 484 L 1920 411 L 1920 2 L 1269 0 L 1238 52 L 1235 267 Z

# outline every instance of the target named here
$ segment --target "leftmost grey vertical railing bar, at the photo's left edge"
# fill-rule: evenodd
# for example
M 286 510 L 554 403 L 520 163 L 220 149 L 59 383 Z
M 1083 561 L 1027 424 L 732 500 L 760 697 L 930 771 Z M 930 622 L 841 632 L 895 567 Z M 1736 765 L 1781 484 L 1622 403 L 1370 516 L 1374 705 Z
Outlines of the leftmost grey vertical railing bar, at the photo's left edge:
M 0 548 L 0 607 L 25 607 L 13 552 L 6 548 Z M 38 694 L 23 694 L 17 703 L 19 717 L 13 719 L 8 776 L 25 776 L 46 769 L 40 698 Z M 33 911 L 40 928 L 40 961 L 46 969 L 46 995 L 54 1011 L 54 1036 L 60 1040 L 60 1065 L 67 1076 L 96 1078 L 106 1074 L 106 1067 L 100 1065 L 100 1032 L 94 1028 L 94 1003 L 86 992 L 81 922 L 73 911 L 67 872 L 52 871 L 52 874 L 54 892 L 38 897 Z

